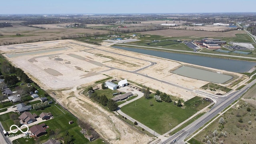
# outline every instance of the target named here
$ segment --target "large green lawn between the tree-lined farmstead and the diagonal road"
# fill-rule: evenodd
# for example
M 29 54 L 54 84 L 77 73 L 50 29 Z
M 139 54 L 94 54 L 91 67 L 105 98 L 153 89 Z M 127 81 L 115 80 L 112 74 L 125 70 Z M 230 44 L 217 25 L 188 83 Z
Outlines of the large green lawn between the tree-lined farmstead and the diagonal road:
M 160 134 L 170 130 L 169 123 L 175 127 L 195 114 L 198 109 L 210 104 L 207 101 L 202 104 L 199 97 L 193 98 L 183 107 L 177 107 L 174 102 L 156 102 L 152 97 L 150 99 L 143 97 L 136 101 L 136 106 L 135 101 L 123 106 L 122 112 Z

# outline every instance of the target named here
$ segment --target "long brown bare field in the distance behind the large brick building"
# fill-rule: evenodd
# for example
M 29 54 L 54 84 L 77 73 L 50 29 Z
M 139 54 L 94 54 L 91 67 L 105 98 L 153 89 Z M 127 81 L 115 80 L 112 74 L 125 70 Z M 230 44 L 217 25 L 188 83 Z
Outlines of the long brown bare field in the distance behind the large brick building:
M 232 30 L 229 32 L 207 32 L 207 31 L 196 31 L 196 30 L 154 30 L 148 32 L 140 32 L 142 34 L 153 34 L 160 36 L 199 36 L 199 37 L 234 37 L 235 34 L 246 34 L 243 30 Z

